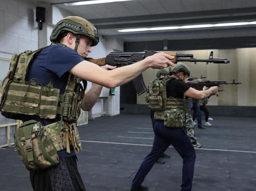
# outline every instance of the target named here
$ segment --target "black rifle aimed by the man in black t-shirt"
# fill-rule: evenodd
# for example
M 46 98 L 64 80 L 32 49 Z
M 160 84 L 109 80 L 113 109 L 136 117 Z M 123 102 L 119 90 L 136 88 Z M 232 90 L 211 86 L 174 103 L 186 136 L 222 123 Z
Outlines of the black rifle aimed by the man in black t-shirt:
M 226 81 L 201 81 L 201 82 L 188 82 L 190 87 L 193 87 L 197 90 L 202 90 L 203 86 L 212 87 L 212 86 L 220 86 L 220 85 L 228 85 L 228 84 L 242 84 L 241 82 L 226 82 Z

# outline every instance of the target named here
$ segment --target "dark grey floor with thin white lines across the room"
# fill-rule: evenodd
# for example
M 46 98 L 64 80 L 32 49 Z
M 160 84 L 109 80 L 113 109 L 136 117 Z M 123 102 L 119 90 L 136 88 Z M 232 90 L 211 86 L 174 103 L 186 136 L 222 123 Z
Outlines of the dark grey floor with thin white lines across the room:
M 196 149 L 193 191 L 256 190 L 256 119 L 213 117 L 211 127 L 195 128 L 204 149 Z M 204 123 L 204 121 L 203 121 Z M 129 191 L 131 181 L 150 152 L 153 130 L 149 115 L 102 117 L 79 127 L 82 151 L 78 169 L 87 191 Z M 179 191 L 182 159 L 155 164 L 143 185 L 150 191 Z M 0 191 L 31 191 L 29 173 L 14 147 L 0 150 Z

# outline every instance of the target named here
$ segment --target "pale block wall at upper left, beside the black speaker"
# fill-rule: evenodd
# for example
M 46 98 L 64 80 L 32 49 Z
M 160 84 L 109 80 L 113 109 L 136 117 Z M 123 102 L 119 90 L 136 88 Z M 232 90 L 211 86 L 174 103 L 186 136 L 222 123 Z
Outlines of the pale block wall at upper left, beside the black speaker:
M 35 7 L 31 1 L 0 1 L 0 57 L 38 48 Z M 2 77 L 2 76 L 1 76 Z

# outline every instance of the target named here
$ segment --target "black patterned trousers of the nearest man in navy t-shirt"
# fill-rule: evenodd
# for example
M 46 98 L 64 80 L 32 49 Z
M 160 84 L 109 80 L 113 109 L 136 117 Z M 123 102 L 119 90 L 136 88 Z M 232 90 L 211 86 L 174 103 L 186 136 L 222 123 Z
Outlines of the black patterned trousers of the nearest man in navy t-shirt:
M 31 170 L 34 191 L 86 191 L 77 169 L 77 157 L 60 157 L 59 164 L 44 170 Z

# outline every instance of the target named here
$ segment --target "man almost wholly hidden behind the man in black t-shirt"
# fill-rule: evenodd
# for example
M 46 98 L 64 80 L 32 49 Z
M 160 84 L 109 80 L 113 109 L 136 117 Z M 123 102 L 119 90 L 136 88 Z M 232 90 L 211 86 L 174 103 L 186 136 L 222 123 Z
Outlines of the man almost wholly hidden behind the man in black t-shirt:
M 157 73 L 156 73 L 156 79 L 154 79 L 152 82 L 150 83 L 158 83 L 159 80 L 162 80 L 163 78 L 166 78 L 168 76 L 168 72 L 166 70 L 159 70 Z M 148 102 L 148 97 L 147 95 L 149 94 L 146 94 L 145 96 L 145 99 L 146 99 L 146 102 Z M 152 126 L 154 128 L 154 111 L 152 109 L 150 109 L 150 118 L 151 118 L 151 121 L 152 121 Z M 161 158 L 165 158 L 165 159 L 169 159 L 170 158 L 170 155 L 167 155 L 165 153 L 162 154 Z M 158 164 L 164 164 L 165 161 L 161 160 L 161 159 L 158 159 L 158 161 L 156 161 L 156 163 Z

